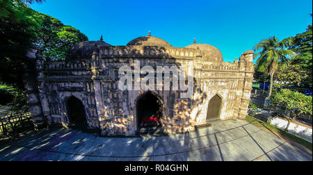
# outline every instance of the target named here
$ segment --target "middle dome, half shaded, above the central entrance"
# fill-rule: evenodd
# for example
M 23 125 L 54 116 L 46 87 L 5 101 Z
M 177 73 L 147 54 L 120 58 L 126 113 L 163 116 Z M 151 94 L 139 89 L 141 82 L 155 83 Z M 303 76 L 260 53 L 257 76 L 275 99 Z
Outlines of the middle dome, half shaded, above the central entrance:
M 127 44 L 127 46 L 134 46 L 134 45 L 172 47 L 172 45 L 166 42 L 166 40 L 153 37 L 153 36 L 143 36 L 143 37 L 135 38 L 134 40 L 131 40 L 131 42 Z

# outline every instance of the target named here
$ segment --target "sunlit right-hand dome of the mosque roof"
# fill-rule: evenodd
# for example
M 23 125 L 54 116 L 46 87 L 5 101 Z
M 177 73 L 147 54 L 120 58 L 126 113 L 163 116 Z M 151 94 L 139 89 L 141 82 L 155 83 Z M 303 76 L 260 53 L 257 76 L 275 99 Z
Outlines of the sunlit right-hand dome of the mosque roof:
M 197 49 L 198 47 L 201 50 L 202 60 L 208 62 L 223 62 L 222 53 L 214 46 L 199 43 L 193 43 L 191 45 L 186 46 L 186 48 L 189 49 Z

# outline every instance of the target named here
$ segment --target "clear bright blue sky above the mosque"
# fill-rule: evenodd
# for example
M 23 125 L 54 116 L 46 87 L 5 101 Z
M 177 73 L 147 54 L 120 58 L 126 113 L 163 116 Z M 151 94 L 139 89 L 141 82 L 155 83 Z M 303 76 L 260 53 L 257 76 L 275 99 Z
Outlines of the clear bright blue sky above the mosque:
M 275 35 L 302 33 L 312 23 L 312 0 L 46 0 L 31 8 L 60 19 L 89 40 L 126 45 L 140 36 L 166 40 L 173 47 L 211 44 L 225 62 Z

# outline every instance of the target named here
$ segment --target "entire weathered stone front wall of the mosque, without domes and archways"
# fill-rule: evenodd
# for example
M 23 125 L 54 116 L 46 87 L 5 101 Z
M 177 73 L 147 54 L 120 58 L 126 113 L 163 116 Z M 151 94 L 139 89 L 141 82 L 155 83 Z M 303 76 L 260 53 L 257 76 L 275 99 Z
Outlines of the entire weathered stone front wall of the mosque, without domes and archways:
M 88 128 L 100 128 L 102 135 L 136 134 L 136 103 L 145 92 L 118 89 L 118 69 L 128 65 L 134 71 L 135 61 L 140 61 L 141 68 L 150 65 L 154 70 L 184 66 L 194 78 L 190 99 L 180 98 L 180 90 L 150 90 L 163 103 L 165 133 L 192 131 L 195 125 L 205 124 L 207 106 L 216 94 L 222 99 L 220 119 L 243 119 L 252 86 L 252 55 L 247 51 L 239 63 L 217 63 L 202 62 L 199 49 L 95 46 L 91 58 L 38 61 L 42 111 L 49 123 L 67 126 L 66 101 L 74 96 L 85 106 Z

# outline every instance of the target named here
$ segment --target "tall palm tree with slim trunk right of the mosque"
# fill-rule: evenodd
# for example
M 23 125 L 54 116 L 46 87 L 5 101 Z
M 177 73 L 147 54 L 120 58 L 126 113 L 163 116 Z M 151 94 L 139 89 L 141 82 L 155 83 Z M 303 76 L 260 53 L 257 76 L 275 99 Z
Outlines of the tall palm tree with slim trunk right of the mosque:
M 289 58 L 296 56 L 294 51 L 285 49 L 285 47 L 291 44 L 290 38 L 278 42 L 278 38 L 275 36 L 262 40 L 253 47 L 254 51 L 259 51 L 255 53 L 254 58 L 257 58 L 256 68 L 261 72 L 266 72 L 270 77 L 270 92 L 268 93 L 269 99 L 272 94 L 273 89 L 273 76 L 278 69 L 278 66 L 287 67 L 289 65 Z

